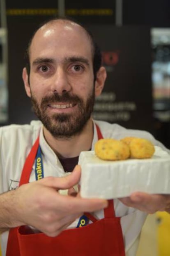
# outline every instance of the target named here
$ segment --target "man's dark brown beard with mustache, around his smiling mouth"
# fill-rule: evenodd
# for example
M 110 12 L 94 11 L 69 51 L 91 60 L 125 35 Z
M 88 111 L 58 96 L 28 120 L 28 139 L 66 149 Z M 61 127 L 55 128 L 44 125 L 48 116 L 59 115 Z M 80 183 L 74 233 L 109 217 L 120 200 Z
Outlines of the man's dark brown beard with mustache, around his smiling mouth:
M 31 95 L 34 113 L 55 138 L 69 138 L 79 134 L 90 119 L 93 111 L 94 99 L 94 89 L 86 103 L 76 95 L 69 95 L 68 92 L 65 92 L 63 95 L 55 93 L 51 96 L 44 97 L 41 100 L 41 105 L 39 107 L 37 99 Z M 52 117 L 49 117 L 48 114 L 46 114 L 48 105 L 59 102 L 77 104 L 78 111 L 76 110 L 76 112 L 72 114 L 53 114 Z

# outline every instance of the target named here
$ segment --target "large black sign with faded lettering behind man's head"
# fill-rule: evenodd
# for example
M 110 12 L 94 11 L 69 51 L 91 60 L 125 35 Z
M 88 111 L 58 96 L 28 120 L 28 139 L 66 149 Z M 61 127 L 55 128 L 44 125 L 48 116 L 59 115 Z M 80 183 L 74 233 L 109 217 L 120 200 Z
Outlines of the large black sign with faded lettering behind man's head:
M 91 26 L 107 70 L 94 118 L 127 128 L 152 130 L 150 29 Z

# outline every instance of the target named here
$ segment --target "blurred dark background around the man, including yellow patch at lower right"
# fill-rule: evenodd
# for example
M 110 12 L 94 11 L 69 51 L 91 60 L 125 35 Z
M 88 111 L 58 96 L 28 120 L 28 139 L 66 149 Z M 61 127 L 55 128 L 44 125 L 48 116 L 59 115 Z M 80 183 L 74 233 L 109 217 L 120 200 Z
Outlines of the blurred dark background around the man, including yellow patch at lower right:
M 24 53 L 39 23 L 64 15 L 102 51 L 108 78 L 94 118 L 147 130 L 170 148 L 170 0 L 0 0 L 0 126 L 36 119 L 21 78 Z M 138 255 L 170 256 L 169 215 L 147 221 Z

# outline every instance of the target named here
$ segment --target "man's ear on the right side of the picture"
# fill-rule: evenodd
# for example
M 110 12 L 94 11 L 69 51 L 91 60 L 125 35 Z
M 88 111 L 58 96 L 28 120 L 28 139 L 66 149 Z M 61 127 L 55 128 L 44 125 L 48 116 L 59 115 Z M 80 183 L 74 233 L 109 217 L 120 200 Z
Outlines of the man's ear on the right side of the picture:
M 101 95 L 101 92 L 103 90 L 104 87 L 104 83 L 106 80 L 106 69 L 105 67 L 101 66 L 99 71 L 96 73 L 96 81 L 95 81 L 95 96 L 99 96 Z

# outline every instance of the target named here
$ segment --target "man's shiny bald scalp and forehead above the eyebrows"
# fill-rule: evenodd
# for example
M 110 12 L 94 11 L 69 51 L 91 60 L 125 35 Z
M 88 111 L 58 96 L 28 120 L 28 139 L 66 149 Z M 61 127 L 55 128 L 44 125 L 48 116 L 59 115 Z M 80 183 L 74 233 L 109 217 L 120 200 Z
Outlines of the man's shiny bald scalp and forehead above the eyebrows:
M 46 47 L 46 43 L 48 44 L 48 49 L 50 49 L 52 43 L 56 47 L 60 47 L 61 42 L 63 42 L 62 46 L 64 47 L 66 45 L 68 49 L 72 47 L 72 49 L 75 48 L 76 50 L 76 45 L 81 45 L 81 48 L 83 47 L 84 50 L 88 49 L 88 52 L 90 50 L 90 55 L 93 55 L 90 36 L 85 29 L 74 22 L 62 20 L 50 21 L 39 28 L 32 39 L 30 54 L 32 51 L 39 51 L 42 45 Z

